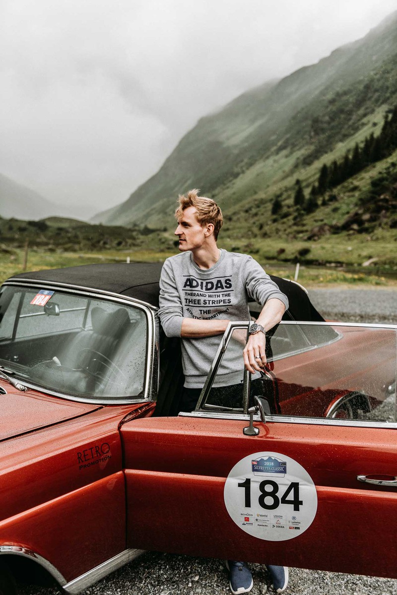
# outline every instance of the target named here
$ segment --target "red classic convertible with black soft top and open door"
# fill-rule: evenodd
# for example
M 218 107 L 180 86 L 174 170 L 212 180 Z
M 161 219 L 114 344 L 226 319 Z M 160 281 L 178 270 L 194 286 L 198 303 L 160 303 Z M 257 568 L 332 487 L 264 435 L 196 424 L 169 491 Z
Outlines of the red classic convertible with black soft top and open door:
M 2 286 L 0 595 L 20 576 L 79 593 L 142 550 L 397 577 L 397 327 L 325 322 L 274 278 L 290 309 L 259 383 L 241 358 L 240 393 L 211 388 L 245 343 L 232 322 L 180 412 L 160 270 Z

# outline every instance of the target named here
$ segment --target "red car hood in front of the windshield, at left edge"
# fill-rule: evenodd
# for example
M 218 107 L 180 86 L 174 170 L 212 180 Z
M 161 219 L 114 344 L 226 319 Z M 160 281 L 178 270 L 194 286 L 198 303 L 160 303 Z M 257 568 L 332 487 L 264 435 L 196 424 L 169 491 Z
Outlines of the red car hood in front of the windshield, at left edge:
M 0 440 L 59 424 L 101 408 L 100 405 L 51 397 L 36 390 L 23 393 L 2 378 L 0 386 L 6 391 L 0 394 Z

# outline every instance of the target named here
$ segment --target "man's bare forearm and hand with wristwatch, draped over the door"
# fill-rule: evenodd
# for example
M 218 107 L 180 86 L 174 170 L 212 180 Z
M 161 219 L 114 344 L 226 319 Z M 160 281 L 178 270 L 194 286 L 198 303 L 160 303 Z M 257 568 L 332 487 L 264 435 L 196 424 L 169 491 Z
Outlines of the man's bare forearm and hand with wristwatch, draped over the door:
M 278 324 L 285 312 L 285 303 L 277 297 L 270 297 L 262 308 L 257 318 L 258 324 L 264 327 L 265 331 L 270 330 Z M 260 372 L 266 363 L 265 356 L 266 337 L 261 331 L 250 335 L 243 350 L 245 368 L 254 374 Z M 258 356 L 258 357 L 257 357 Z

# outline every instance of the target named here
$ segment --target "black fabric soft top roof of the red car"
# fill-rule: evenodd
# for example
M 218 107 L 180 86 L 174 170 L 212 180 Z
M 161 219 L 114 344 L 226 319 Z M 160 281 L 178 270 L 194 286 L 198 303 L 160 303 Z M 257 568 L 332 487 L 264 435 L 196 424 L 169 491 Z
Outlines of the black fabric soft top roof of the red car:
M 80 267 L 54 268 L 32 273 L 20 273 L 12 280 L 31 279 L 47 283 L 65 283 L 85 289 L 119 293 L 158 306 L 159 280 L 162 262 L 118 262 L 89 264 Z M 293 281 L 281 277 L 270 278 L 289 299 L 289 314 L 293 320 L 323 321 L 307 293 Z M 258 306 L 259 308 L 259 306 Z M 257 308 L 254 308 L 257 309 Z

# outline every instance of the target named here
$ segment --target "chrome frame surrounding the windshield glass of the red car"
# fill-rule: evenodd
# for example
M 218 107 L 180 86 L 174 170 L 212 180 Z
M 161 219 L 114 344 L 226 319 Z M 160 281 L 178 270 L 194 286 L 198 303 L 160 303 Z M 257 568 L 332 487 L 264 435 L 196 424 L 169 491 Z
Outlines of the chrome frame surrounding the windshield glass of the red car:
M 5 286 L 18 286 L 18 287 L 38 287 L 47 289 L 51 287 L 52 289 L 59 289 L 66 293 L 77 293 L 83 296 L 89 297 L 99 297 L 99 299 L 107 299 L 110 302 L 117 302 L 117 303 L 124 303 L 129 306 L 136 306 L 143 312 L 145 312 L 146 320 L 148 322 L 148 337 L 147 337 L 147 345 L 146 345 L 146 367 L 145 367 L 145 388 L 143 390 L 142 396 L 133 396 L 131 398 L 124 397 L 121 399 L 89 399 L 88 397 L 77 397 L 70 394 L 59 393 L 55 390 L 47 389 L 46 387 L 39 386 L 37 384 L 32 384 L 26 382 L 24 378 L 21 381 L 29 388 L 34 390 L 39 390 L 52 396 L 61 397 L 62 399 L 67 399 L 70 401 L 76 401 L 80 403 L 93 403 L 93 405 L 127 405 L 129 403 L 142 403 L 142 401 L 154 401 L 157 399 L 157 377 L 155 378 L 155 383 L 153 383 L 153 372 L 154 372 L 154 365 L 155 362 L 158 362 L 158 358 L 155 359 L 155 350 L 158 349 L 156 342 L 155 342 L 155 314 L 157 312 L 157 308 L 148 304 L 146 302 L 142 302 L 141 300 L 137 300 L 133 297 L 129 296 L 122 296 L 120 293 L 112 293 L 112 292 L 104 292 L 102 290 L 93 290 L 89 287 L 80 287 L 74 286 L 67 283 L 49 283 L 48 281 L 36 281 L 33 279 L 24 279 L 21 281 L 17 280 L 10 280 L 5 281 L 3 284 Z M 155 375 L 156 376 L 156 375 Z

